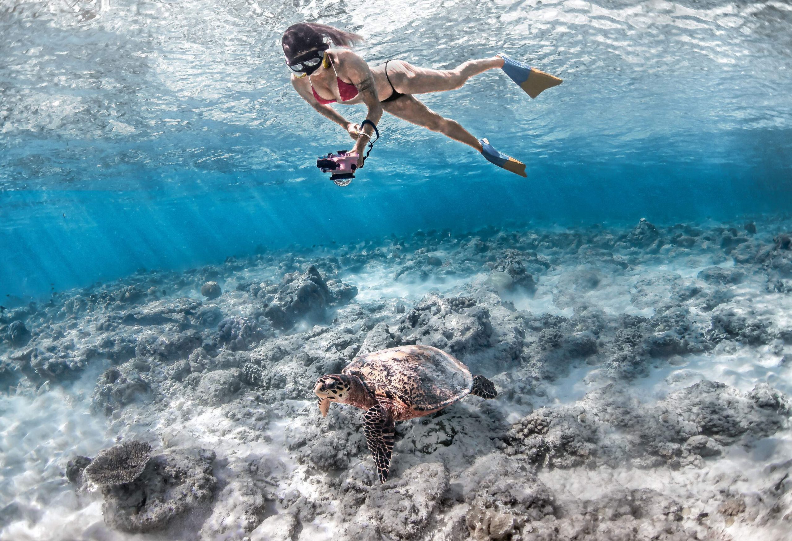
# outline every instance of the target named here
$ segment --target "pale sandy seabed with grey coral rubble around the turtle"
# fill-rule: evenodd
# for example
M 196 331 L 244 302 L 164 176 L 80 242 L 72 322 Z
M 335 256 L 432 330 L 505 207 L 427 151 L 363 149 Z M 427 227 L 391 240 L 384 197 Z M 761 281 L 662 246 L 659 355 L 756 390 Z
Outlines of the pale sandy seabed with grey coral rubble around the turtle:
M 17 303 L 0 539 L 788 539 L 790 230 L 418 231 Z M 312 388 L 409 344 L 499 396 L 398 424 L 380 485 Z

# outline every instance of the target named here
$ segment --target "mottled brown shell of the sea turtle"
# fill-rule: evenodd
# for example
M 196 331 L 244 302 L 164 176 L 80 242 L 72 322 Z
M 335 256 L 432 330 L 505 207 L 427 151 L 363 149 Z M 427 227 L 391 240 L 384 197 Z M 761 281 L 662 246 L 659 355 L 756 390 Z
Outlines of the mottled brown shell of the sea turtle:
M 371 392 L 398 400 L 417 412 L 440 410 L 473 389 L 470 370 L 429 345 L 405 345 L 367 353 L 342 372 L 362 375 Z

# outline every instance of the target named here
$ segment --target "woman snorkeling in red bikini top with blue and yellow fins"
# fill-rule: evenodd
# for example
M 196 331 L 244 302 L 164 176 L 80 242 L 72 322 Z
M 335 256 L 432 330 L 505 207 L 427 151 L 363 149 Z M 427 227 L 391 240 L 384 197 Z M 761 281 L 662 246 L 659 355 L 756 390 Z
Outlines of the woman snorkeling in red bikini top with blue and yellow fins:
M 330 47 L 328 38 L 336 48 Z M 356 139 L 352 152 L 359 156 L 358 167 L 363 166 L 363 150 L 373 130 L 368 123 L 361 129 L 359 124 L 349 122 L 329 106 L 331 103 L 363 103 L 368 108 L 366 120 L 373 124 L 379 123 L 383 110 L 390 112 L 473 147 L 505 170 L 527 176 L 523 162 L 498 152 L 487 139 L 476 139 L 459 122 L 440 116 L 414 94 L 455 90 L 474 75 L 494 68 L 502 68 L 531 97 L 561 84 L 561 79 L 502 53 L 489 59 L 468 60 L 453 70 L 428 70 L 404 60 L 388 60 L 382 66 L 369 68 L 364 59 L 350 50 L 352 44 L 360 41 L 363 38 L 357 34 L 317 23 L 291 25 L 281 41 L 287 66 L 291 68 L 291 84 L 311 107 Z

